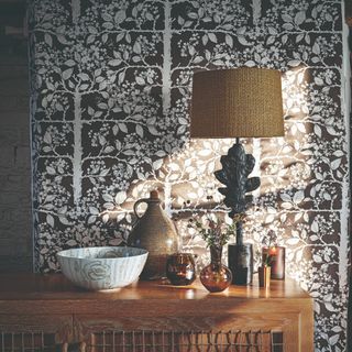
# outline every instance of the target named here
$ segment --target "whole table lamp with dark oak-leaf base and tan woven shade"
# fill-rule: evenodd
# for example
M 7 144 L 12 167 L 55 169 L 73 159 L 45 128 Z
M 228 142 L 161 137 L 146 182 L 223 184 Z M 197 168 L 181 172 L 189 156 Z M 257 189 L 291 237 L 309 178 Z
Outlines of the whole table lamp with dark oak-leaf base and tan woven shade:
M 226 187 L 218 190 L 231 218 L 242 218 L 256 189 L 258 177 L 249 177 L 255 160 L 246 154 L 240 138 L 284 135 L 280 72 L 241 67 L 194 74 L 190 136 L 197 139 L 235 138 L 222 169 L 215 173 Z M 237 243 L 229 245 L 229 267 L 233 284 L 248 285 L 253 276 L 252 244 L 243 243 L 242 220 L 237 222 Z

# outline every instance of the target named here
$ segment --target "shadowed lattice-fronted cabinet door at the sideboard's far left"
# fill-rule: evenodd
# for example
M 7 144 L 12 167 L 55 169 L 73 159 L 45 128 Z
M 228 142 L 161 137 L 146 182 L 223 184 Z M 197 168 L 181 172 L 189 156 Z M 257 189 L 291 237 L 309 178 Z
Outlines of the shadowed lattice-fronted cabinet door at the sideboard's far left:
M 0 315 L 1 352 L 65 351 L 72 336 L 72 316 Z

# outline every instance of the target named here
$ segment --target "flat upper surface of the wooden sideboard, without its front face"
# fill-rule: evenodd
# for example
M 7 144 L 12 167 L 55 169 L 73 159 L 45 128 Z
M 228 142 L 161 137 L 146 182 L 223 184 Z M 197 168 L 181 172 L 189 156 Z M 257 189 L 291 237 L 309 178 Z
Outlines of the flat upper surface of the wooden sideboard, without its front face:
M 74 286 L 61 274 L 9 274 L 0 275 L 0 300 L 131 300 L 131 299 L 213 299 L 232 298 L 309 298 L 293 279 L 272 280 L 265 290 L 257 285 L 231 285 L 227 290 L 210 294 L 196 280 L 190 286 L 172 286 L 167 282 L 138 282 L 124 288 L 89 292 Z

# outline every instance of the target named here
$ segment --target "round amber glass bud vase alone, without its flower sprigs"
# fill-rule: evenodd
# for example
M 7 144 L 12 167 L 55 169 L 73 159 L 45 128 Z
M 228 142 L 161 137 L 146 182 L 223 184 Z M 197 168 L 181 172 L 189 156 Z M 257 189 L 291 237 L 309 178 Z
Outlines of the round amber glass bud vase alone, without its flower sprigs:
M 210 293 L 220 293 L 228 288 L 232 282 L 231 271 L 221 264 L 221 254 L 222 246 L 211 245 L 211 262 L 201 270 L 199 275 L 200 282 Z

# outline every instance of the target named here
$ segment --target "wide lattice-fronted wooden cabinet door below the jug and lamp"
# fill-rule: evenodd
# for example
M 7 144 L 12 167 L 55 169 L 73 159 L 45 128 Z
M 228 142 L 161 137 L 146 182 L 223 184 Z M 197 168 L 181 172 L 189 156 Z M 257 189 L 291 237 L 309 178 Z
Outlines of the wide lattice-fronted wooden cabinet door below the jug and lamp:
M 78 316 L 74 327 L 86 352 L 297 352 L 296 318 Z

